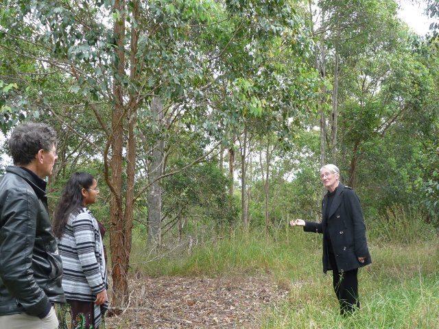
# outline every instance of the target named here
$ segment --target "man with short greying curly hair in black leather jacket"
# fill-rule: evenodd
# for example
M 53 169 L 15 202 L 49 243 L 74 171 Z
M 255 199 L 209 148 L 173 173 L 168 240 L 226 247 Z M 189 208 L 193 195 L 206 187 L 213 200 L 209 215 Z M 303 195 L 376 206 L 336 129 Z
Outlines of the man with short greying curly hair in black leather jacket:
M 24 123 L 8 145 L 14 166 L 0 180 L 0 328 L 56 329 L 53 304 L 66 300 L 43 180 L 58 158 L 56 132 Z

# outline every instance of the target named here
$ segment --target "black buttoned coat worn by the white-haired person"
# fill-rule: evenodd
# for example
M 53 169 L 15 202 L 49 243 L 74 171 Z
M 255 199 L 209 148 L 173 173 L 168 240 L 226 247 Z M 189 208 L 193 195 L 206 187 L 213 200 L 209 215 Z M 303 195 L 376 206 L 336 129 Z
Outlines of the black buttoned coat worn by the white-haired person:
M 325 214 L 328 195 L 322 200 L 322 213 Z M 350 271 L 372 263 L 366 241 L 366 225 L 359 199 L 353 189 L 339 183 L 329 210 L 328 223 L 307 221 L 303 228 L 305 232 L 323 233 L 323 271 L 332 269 L 329 263 L 327 236 L 333 246 L 335 260 L 339 271 Z M 365 257 L 364 263 L 359 263 L 358 257 Z

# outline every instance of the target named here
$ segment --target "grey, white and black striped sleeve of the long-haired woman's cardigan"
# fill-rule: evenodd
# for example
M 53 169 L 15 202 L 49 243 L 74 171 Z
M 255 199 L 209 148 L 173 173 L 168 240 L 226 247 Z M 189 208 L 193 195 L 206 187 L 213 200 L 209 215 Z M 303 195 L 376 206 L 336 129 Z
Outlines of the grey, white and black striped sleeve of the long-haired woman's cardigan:
M 99 293 L 105 289 L 105 282 L 99 267 L 99 261 L 95 254 L 95 229 L 93 219 L 87 212 L 81 212 L 72 224 L 75 236 L 78 257 L 82 271 L 93 293 Z

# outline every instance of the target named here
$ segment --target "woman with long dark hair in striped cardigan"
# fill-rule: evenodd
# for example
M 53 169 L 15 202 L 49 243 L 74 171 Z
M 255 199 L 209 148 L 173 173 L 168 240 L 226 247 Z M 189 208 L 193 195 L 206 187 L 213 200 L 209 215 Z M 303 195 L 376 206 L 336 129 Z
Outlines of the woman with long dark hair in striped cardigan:
M 73 173 L 55 211 L 54 233 L 68 303 L 58 310 L 62 329 L 99 328 L 108 309 L 104 227 L 87 208 L 96 202 L 98 193 L 93 175 Z

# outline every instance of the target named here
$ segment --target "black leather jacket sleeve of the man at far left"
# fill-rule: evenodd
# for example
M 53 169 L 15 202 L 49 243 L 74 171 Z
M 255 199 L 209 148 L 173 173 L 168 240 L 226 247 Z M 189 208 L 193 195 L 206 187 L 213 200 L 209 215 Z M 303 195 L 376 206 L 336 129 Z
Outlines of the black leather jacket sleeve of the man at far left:
M 49 299 L 34 280 L 32 254 L 38 199 L 26 189 L 11 189 L 1 212 L 0 277 L 29 315 L 45 312 Z

